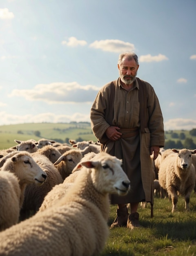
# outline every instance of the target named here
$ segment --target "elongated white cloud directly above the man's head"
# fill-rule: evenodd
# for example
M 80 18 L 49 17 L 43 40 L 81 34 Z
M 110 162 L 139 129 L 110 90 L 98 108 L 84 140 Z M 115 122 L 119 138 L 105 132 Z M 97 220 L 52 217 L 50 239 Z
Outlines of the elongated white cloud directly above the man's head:
M 121 40 L 96 40 L 93 43 L 89 45 L 89 47 L 95 48 L 95 49 L 102 49 L 102 51 L 105 52 L 132 52 L 134 51 L 135 47 L 131 43 L 125 43 Z

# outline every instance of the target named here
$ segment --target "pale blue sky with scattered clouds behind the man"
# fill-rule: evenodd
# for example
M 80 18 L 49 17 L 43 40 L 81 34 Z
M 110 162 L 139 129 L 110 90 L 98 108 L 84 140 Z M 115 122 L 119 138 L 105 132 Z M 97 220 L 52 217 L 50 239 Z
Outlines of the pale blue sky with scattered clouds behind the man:
M 0 125 L 90 122 L 125 51 L 165 130 L 196 128 L 196 0 L 0 0 Z

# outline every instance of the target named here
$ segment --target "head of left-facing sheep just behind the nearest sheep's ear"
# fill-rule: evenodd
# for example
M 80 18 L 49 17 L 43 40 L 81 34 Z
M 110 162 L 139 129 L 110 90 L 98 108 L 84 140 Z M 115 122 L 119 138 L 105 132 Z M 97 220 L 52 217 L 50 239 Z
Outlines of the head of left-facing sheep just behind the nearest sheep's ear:
M 65 180 L 81 159 L 82 153 L 80 153 L 80 150 L 70 149 L 59 157 L 59 159 L 54 163 L 54 166 L 58 169 L 62 179 Z

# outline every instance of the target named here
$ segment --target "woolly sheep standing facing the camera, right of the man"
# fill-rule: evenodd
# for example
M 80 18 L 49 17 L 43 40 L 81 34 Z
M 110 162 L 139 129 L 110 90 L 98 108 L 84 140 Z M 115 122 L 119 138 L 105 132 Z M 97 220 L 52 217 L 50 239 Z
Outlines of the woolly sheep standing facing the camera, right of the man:
M 195 186 L 195 170 L 192 164 L 192 154 L 196 150 L 172 149 L 160 164 L 158 180 L 160 186 L 168 193 L 172 201 L 172 212 L 177 210 L 178 194 L 185 197 L 185 209 L 189 210 L 190 194 Z

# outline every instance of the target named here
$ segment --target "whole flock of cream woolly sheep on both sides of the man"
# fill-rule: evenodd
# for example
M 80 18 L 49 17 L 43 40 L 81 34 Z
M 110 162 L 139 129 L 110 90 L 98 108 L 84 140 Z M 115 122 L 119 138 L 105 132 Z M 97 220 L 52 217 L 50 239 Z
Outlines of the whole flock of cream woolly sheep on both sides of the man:
M 0 256 L 99 254 L 109 194 L 130 189 L 121 160 L 93 141 L 15 141 L 0 150 Z M 172 212 L 183 195 L 189 210 L 196 150 L 163 150 L 152 163 L 155 192 L 171 199 Z

